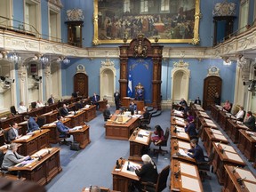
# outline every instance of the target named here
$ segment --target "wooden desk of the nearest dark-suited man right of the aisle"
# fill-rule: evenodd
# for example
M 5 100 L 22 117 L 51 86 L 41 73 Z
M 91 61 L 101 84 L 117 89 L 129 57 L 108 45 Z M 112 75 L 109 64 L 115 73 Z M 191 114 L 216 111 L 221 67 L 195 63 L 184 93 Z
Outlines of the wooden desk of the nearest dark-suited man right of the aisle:
M 183 162 L 188 162 L 189 164 L 196 164 L 196 160 L 190 156 L 183 156 L 181 151 L 184 149 L 190 149 L 190 142 L 184 140 L 171 140 L 171 156 L 172 159 L 179 159 Z

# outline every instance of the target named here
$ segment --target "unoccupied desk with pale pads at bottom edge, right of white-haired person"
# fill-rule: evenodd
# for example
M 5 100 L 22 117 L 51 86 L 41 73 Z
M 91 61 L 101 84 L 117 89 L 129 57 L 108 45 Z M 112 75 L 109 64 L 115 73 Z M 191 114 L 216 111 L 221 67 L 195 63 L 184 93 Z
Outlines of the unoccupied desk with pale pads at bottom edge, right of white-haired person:
M 188 164 L 173 159 L 171 162 L 171 170 L 171 191 L 204 191 L 195 164 Z

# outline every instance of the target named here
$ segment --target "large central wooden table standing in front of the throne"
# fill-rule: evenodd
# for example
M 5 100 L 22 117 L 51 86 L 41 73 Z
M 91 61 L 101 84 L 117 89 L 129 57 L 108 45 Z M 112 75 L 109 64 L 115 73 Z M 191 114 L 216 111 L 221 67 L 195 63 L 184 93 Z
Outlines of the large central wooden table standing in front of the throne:
M 140 126 L 139 117 L 123 117 L 124 122 L 118 122 L 117 116 L 112 116 L 105 124 L 106 138 L 114 140 L 129 140 L 133 130 Z

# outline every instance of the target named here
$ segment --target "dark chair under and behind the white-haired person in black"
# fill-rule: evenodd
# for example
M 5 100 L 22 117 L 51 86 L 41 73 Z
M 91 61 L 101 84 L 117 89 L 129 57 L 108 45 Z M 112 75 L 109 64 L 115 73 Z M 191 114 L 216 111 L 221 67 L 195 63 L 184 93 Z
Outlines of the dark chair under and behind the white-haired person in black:
M 158 174 L 156 184 L 152 182 L 141 182 L 142 191 L 148 192 L 160 192 L 166 188 L 167 178 L 170 172 L 170 165 L 164 167 L 164 169 Z

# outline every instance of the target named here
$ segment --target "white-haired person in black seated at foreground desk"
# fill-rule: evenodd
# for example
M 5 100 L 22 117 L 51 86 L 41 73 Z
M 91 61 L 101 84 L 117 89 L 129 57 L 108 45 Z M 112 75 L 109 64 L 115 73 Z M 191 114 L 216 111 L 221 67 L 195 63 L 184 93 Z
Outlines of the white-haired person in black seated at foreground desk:
M 158 179 L 158 172 L 155 162 L 153 162 L 147 154 L 141 156 L 141 159 L 143 161 L 143 165 L 140 169 L 135 170 L 136 175 L 140 178 L 140 181 L 156 183 Z M 136 187 L 140 191 L 140 183 L 137 183 Z

